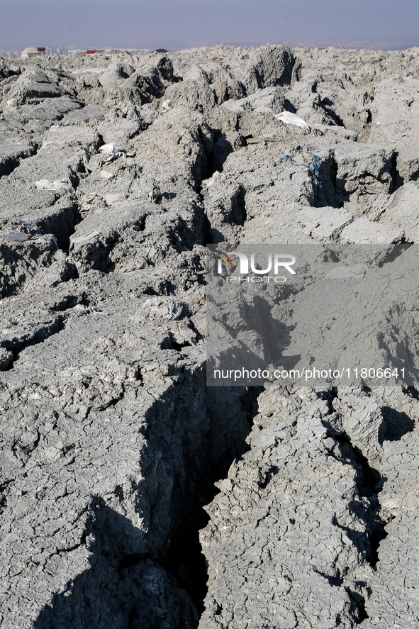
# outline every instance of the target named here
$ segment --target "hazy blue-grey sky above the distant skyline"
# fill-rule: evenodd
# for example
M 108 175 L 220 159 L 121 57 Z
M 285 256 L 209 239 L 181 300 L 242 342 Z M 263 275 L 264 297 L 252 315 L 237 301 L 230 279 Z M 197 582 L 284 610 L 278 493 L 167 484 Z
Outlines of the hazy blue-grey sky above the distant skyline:
M 0 49 L 419 43 L 418 0 L 0 0 Z

